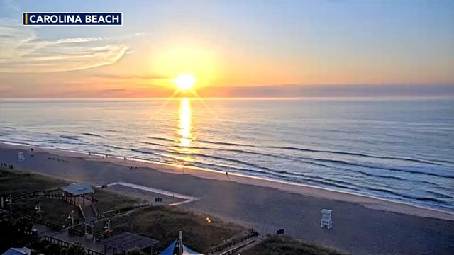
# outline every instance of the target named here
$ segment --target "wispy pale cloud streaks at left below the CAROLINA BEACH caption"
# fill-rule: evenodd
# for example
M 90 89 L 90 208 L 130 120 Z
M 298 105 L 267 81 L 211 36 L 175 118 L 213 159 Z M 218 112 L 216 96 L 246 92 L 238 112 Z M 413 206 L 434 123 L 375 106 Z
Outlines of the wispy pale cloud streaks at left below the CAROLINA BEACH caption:
M 43 40 L 38 30 L 0 18 L 0 72 L 65 72 L 114 64 L 129 46 L 115 38 Z

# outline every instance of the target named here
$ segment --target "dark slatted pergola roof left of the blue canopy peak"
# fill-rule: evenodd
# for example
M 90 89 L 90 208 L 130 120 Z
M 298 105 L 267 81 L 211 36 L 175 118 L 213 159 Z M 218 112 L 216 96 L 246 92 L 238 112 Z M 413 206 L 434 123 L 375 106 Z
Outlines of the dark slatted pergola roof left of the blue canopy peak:
M 149 249 L 150 254 L 153 254 L 153 246 L 157 243 L 159 243 L 159 241 L 155 239 L 143 237 L 130 232 L 123 232 L 114 237 L 103 239 L 99 242 L 99 244 L 104 244 L 104 254 L 107 254 L 109 249 L 113 249 L 114 254 L 117 254 L 118 251 L 126 254 L 126 251 L 131 249 L 140 249 L 143 251 L 145 249 Z

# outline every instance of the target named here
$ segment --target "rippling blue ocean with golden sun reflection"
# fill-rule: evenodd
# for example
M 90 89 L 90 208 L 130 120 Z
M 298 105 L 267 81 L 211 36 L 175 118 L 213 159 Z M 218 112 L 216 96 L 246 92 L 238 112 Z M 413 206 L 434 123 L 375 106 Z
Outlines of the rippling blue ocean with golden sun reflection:
M 454 212 L 454 99 L 0 99 L 0 141 Z

